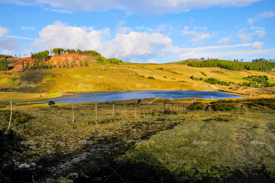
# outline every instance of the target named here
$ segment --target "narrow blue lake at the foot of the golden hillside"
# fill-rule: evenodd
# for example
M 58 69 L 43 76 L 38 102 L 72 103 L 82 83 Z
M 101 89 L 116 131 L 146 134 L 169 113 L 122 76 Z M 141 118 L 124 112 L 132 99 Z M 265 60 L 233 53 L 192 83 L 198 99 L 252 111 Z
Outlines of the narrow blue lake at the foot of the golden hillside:
M 87 92 L 74 93 L 74 96 L 59 97 L 55 103 L 100 102 L 113 100 L 131 100 L 142 98 L 202 98 L 202 99 L 240 98 L 242 96 L 211 91 L 130 91 L 130 92 Z

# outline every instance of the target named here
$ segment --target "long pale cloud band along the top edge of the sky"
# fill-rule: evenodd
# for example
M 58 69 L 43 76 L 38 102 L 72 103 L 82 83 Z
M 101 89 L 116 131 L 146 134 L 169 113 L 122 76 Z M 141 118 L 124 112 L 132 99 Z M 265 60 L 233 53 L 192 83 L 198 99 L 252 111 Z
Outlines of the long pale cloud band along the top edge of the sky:
M 104 3 L 100 0 L 87 1 L 78 0 L 2 0 L 3 3 L 13 3 L 17 5 L 45 5 L 50 6 L 51 11 L 59 13 L 75 13 L 75 12 L 102 12 L 103 10 L 109 11 L 118 9 L 126 11 L 128 15 L 138 14 L 142 16 L 154 17 L 156 15 L 165 15 L 170 13 L 180 13 L 183 11 L 190 11 L 191 9 L 203 9 L 209 7 L 242 7 L 250 5 L 260 0 L 219 0 L 219 1 L 205 1 L 205 0 L 162 0 L 162 1 L 125 1 L 125 0 L 106 0 Z

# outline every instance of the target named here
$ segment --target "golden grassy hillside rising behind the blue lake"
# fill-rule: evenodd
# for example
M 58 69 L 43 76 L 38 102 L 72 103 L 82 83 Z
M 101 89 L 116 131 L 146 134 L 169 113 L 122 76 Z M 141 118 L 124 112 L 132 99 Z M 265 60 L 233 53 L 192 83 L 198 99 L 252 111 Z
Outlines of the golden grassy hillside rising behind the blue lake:
M 54 68 L 42 70 L 25 70 L 21 72 L 0 72 L 0 101 L 13 99 L 7 92 L 33 93 L 35 96 L 28 97 L 22 94 L 20 100 L 37 99 L 36 94 L 48 97 L 56 92 L 108 92 L 130 90 L 222 90 L 227 92 L 256 94 L 273 94 L 273 88 L 235 87 L 248 75 L 267 75 L 270 83 L 275 83 L 275 70 L 227 70 L 219 67 L 190 67 L 187 63 L 127 63 L 122 64 L 99 64 L 91 57 L 89 66 L 70 68 L 70 61 L 88 55 L 62 54 L 52 56 L 52 59 L 68 60 L 69 68 Z M 58 59 L 57 59 L 58 58 Z M 85 58 L 83 58 L 85 59 Z M 192 80 L 195 78 L 216 78 L 220 81 L 230 82 L 230 86 L 211 85 L 203 81 Z M 155 79 L 148 79 L 153 76 Z M 39 95 L 40 96 L 40 95 Z M 41 97 L 40 97 L 41 98 Z M 17 100 L 17 99 L 16 99 Z

